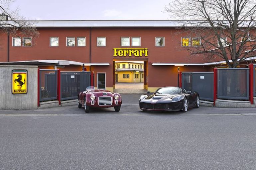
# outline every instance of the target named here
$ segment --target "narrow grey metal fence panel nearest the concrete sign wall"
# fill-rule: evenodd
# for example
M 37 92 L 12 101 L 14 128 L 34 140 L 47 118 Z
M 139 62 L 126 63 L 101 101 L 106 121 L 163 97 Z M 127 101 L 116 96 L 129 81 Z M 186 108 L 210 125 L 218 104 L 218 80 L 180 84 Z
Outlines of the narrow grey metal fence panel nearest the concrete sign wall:
M 39 90 L 40 100 L 56 100 L 57 99 L 57 80 L 58 70 L 45 70 L 39 71 Z

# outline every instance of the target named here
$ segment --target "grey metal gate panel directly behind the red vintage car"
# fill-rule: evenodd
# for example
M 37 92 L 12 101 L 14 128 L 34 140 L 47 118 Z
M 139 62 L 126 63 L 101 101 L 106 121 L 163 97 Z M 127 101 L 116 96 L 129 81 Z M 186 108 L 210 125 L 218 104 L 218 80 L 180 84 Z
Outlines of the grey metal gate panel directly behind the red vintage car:
M 91 85 L 91 72 L 61 72 L 61 100 L 77 99 Z

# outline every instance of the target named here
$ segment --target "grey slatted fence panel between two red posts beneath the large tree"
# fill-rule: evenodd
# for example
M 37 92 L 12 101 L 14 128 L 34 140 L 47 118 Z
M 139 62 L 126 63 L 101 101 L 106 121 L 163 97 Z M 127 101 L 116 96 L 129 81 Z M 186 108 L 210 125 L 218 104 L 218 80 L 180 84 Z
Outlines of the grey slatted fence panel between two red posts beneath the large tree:
M 219 99 L 249 99 L 249 68 L 218 69 Z

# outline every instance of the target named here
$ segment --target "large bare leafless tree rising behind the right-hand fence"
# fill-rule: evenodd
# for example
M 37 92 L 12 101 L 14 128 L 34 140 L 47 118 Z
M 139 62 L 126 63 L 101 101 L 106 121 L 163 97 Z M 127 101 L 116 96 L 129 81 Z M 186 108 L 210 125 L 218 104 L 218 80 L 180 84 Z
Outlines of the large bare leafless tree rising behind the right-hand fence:
M 256 0 L 172 0 L 165 11 L 194 37 L 196 47 L 186 48 L 192 55 L 218 56 L 235 68 L 256 54 Z

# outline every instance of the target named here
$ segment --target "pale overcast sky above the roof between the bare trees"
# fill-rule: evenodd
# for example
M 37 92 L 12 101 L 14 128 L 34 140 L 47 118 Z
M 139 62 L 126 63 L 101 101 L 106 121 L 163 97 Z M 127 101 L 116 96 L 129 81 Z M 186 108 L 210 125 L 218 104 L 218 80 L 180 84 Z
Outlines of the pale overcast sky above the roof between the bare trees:
M 15 0 L 11 9 L 30 20 L 167 20 L 170 0 Z

